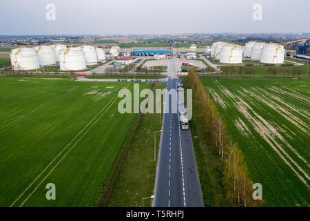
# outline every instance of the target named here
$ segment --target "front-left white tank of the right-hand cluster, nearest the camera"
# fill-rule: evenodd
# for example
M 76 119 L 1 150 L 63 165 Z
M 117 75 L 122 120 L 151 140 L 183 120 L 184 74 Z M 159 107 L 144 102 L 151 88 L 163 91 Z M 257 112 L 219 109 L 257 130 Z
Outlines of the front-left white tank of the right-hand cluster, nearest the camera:
M 242 52 L 241 46 L 236 44 L 226 44 L 220 50 L 220 63 L 225 64 L 241 64 L 242 63 Z

